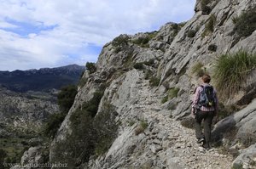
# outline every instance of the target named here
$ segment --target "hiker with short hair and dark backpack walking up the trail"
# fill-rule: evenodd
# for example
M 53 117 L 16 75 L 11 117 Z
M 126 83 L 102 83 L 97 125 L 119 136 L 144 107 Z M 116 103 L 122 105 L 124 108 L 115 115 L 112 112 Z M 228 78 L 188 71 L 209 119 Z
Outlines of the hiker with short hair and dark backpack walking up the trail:
M 218 115 L 218 97 L 216 90 L 209 84 L 211 76 L 201 77 L 202 84 L 196 88 L 192 103 L 192 115 L 195 117 L 195 137 L 197 143 L 205 149 L 210 149 L 211 126 L 214 115 Z M 204 131 L 201 131 L 201 121 L 204 121 Z

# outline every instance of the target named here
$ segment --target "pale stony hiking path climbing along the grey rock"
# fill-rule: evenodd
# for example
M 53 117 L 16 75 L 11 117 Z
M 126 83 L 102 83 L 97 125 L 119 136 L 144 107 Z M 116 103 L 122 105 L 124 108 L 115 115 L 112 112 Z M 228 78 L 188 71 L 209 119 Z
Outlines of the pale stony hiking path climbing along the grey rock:
M 221 154 L 218 148 L 203 149 L 196 143 L 195 131 L 171 118 L 170 110 L 162 110 L 160 98 L 150 90 L 148 81 L 139 83 L 134 106 L 143 110 L 143 116 L 148 121 L 148 129 L 144 131 L 147 144 L 144 152 L 152 155 L 146 166 L 150 168 L 231 168 L 231 155 Z M 143 158 L 141 155 L 138 158 Z M 131 161 L 138 161 L 131 157 Z

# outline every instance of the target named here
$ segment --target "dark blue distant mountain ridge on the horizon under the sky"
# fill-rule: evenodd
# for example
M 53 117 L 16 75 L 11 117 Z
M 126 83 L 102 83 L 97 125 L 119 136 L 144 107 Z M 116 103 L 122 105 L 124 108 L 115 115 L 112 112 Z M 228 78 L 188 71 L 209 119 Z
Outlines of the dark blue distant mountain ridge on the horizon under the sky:
M 0 71 L 0 84 L 15 92 L 45 92 L 76 84 L 84 69 L 85 67 L 80 65 L 67 65 L 39 70 Z

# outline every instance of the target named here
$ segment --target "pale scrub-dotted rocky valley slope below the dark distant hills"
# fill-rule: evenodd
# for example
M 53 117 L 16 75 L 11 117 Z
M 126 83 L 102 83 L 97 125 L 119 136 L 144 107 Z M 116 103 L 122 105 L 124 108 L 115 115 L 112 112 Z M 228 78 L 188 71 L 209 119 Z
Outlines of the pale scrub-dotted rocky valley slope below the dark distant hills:
M 47 93 L 37 95 L 15 93 L 4 87 L 0 88 L 1 130 L 8 128 L 8 135 L 17 132 L 36 132 L 46 118 L 59 111 L 55 98 Z M 44 99 L 39 98 L 44 97 Z M 5 138 L 1 134 L 1 138 Z

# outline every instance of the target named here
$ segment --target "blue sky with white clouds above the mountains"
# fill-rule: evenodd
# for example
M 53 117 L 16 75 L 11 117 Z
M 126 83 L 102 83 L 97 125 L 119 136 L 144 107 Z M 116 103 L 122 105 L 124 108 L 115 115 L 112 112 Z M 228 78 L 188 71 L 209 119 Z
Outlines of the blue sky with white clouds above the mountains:
M 192 18 L 195 0 L 0 0 L 0 70 L 96 62 L 120 34 Z

